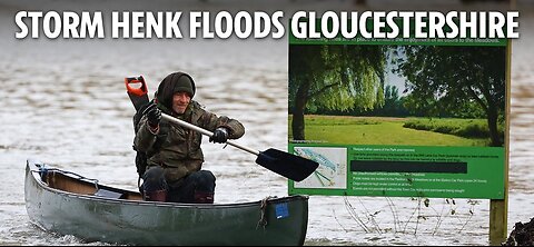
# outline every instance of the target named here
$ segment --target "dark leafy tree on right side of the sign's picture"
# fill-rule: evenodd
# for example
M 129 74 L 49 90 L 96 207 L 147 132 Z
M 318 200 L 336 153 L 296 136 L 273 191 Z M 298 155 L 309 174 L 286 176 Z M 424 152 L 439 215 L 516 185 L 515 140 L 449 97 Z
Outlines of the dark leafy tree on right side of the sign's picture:
M 485 112 L 491 146 L 502 146 L 497 124 L 505 107 L 505 47 L 411 46 L 399 56 L 398 72 L 421 105 L 439 102 L 451 111 L 476 102 Z

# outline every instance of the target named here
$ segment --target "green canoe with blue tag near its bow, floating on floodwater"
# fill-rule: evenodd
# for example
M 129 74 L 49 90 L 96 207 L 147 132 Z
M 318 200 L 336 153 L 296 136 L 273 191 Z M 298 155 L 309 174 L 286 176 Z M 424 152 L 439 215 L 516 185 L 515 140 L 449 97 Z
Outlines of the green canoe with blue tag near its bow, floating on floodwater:
M 308 225 L 307 196 L 212 205 L 144 201 L 138 191 L 30 159 L 24 200 L 30 221 L 44 230 L 120 245 L 303 245 Z

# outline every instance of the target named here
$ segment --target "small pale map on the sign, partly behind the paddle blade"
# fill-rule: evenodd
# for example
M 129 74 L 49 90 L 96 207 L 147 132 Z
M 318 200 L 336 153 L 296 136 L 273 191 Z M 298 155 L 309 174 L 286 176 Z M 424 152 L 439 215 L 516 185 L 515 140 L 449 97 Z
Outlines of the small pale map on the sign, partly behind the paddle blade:
M 295 188 L 334 188 L 347 187 L 347 149 L 325 147 L 295 147 L 295 154 L 312 159 L 319 167 L 312 176 L 295 182 Z

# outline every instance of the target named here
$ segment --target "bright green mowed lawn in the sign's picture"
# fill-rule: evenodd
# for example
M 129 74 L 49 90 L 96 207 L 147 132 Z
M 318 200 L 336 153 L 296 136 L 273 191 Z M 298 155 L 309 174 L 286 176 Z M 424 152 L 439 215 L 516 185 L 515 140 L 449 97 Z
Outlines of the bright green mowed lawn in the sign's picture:
M 289 116 L 289 140 L 293 139 Z M 403 118 L 305 116 L 306 140 L 342 145 L 487 146 L 487 139 L 404 128 Z

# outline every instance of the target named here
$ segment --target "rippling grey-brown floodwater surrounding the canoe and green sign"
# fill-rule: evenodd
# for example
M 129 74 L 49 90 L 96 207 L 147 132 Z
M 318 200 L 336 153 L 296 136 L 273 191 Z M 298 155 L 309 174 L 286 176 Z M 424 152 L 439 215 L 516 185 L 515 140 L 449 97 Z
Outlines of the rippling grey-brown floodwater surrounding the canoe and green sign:
M 95 1 L 93 1 L 95 2 Z M 455 1 L 269 1 L 251 10 L 384 10 L 503 8 Z M 447 2 L 447 3 L 444 3 Z M 521 10 L 521 38 L 513 40 L 510 136 L 508 234 L 534 217 L 534 1 Z M 239 144 L 258 150 L 287 145 L 287 39 L 263 40 L 38 40 L 14 39 L 19 9 L 182 10 L 241 9 L 243 1 L 0 1 L 0 245 L 107 245 L 58 236 L 33 226 L 23 195 L 24 165 L 33 158 L 101 184 L 135 190 L 131 149 L 134 108 L 123 78 L 142 75 L 154 92 L 177 70 L 197 81 L 195 99 L 247 129 Z M 488 6 L 487 6 L 488 4 Z M 492 6 L 495 4 L 495 6 Z M 99 9 L 100 8 L 100 9 Z M 286 31 L 287 37 L 287 31 Z M 287 180 L 255 156 L 209 144 L 205 169 L 217 176 L 216 202 L 286 196 Z M 454 213 L 454 214 L 453 214 Z M 309 199 L 305 245 L 488 245 L 490 201 L 485 199 L 326 197 Z

